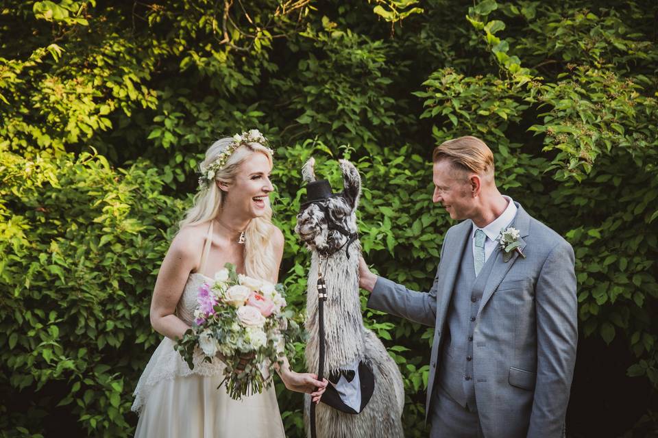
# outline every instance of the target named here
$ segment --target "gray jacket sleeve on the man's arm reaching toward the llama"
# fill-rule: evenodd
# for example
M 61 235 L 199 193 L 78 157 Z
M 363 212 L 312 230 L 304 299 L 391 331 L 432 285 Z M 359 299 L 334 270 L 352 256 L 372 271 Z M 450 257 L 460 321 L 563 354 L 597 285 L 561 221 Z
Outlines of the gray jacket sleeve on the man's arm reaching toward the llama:
M 434 326 L 437 318 L 440 263 L 443 260 L 443 248 L 446 247 L 449 233 L 450 231 L 446 233 L 446 237 L 443 239 L 439 268 L 430 292 L 416 292 L 380 276 L 368 298 L 367 306 L 419 324 Z

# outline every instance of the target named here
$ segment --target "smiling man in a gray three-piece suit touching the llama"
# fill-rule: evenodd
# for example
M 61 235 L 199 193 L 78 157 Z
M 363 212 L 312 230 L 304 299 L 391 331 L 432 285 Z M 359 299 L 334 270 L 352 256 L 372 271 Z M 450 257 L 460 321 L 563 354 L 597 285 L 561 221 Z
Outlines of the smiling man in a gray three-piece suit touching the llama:
M 578 334 L 574 251 L 498 192 L 483 141 L 448 140 L 432 159 L 432 201 L 461 222 L 446 233 L 428 294 L 361 259 L 368 307 L 436 327 L 430 437 L 561 437 Z

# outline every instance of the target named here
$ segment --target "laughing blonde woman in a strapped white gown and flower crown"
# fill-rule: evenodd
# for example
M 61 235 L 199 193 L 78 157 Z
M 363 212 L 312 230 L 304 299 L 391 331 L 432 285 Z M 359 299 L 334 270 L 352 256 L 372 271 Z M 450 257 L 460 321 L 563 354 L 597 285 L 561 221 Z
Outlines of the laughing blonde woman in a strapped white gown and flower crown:
M 268 195 L 272 151 L 255 129 L 222 138 L 200 165 L 201 189 L 180 222 L 162 261 L 151 300 L 151 325 L 164 335 L 139 379 L 132 410 L 139 414 L 136 437 L 284 437 L 273 386 L 233 400 L 223 380 L 223 363 L 194 360 L 190 370 L 173 349 L 194 319 L 199 286 L 227 262 L 242 274 L 276 283 L 283 233 L 271 223 Z M 299 374 L 287 360 L 278 374 L 288 389 L 319 401 L 326 381 Z M 265 376 L 271 378 L 270 376 Z

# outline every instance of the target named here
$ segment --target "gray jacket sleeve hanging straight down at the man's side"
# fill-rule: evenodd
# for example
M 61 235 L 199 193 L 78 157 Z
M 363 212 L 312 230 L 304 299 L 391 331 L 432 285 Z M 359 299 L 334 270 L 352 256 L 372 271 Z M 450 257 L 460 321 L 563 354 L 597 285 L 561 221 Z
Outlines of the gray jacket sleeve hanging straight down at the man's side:
M 573 248 L 562 240 L 537 279 L 537 381 L 528 437 L 563 436 L 578 343 L 574 260 Z

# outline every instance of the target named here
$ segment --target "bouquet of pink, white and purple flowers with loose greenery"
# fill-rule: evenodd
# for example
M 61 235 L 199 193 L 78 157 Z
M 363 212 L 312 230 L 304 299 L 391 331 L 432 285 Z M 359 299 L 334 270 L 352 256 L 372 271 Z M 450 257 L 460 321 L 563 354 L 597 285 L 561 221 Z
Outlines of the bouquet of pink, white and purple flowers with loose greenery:
M 204 361 L 223 360 L 228 394 L 235 400 L 262 392 L 267 385 L 261 368 L 272 374 L 274 365 L 284 357 L 298 327 L 284 311 L 283 286 L 236 274 L 226 267 L 215 274 L 212 284 L 199 289 L 198 307 L 192 328 L 175 345 L 190 369 L 199 348 Z M 198 350 L 197 350 L 198 351 Z M 220 385 L 221 386 L 221 385 Z

